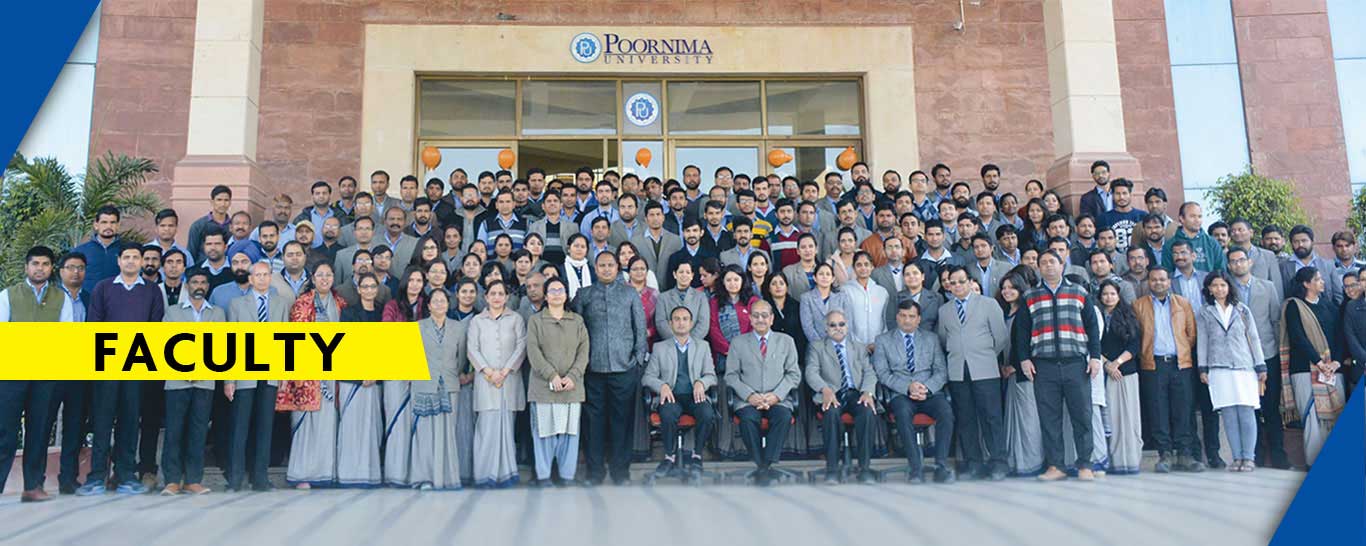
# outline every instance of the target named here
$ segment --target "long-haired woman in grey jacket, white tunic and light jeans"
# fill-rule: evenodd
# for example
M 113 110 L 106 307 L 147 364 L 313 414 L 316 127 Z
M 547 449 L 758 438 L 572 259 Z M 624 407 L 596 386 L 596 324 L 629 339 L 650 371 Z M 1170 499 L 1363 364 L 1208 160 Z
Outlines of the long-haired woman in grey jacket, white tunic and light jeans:
M 1257 334 L 1253 310 L 1238 300 L 1233 277 L 1210 272 L 1205 277 L 1205 304 L 1195 313 L 1199 336 L 1195 351 L 1199 381 L 1209 385 L 1209 400 L 1224 422 L 1233 452 L 1229 472 L 1251 472 L 1257 452 L 1257 408 L 1266 389 L 1266 359 Z

